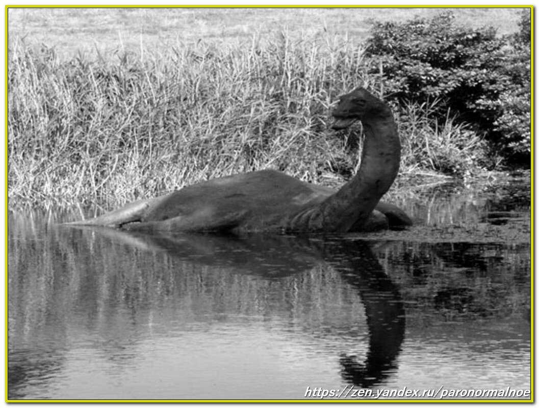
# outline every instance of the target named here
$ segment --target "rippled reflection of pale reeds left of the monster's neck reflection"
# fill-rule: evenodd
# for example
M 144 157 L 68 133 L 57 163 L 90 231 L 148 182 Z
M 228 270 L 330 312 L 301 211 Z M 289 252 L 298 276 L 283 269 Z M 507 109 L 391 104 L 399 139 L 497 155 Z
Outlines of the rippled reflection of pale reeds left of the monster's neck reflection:
M 367 330 L 357 290 L 322 264 L 276 279 L 144 251 L 93 230 L 46 229 L 42 219 L 10 220 L 12 344 L 32 344 L 46 330 L 54 330 L 54 338 L 66 337 L 66 330 L 96 330 L 110 339 L 137 325 L 166 333 L 169 322 L 189 329 L 222 319 L 333 328 L 340 335 L 357 325 Z

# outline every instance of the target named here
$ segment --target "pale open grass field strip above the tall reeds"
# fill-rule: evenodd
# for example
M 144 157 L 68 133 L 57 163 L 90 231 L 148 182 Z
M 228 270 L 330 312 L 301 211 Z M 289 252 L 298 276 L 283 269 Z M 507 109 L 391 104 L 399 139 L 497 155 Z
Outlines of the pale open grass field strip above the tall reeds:
M 363 40 L 372 20 L 399 21 L 414 16 L 432 17 L 439 8 L 116 8 L 116 9 L 10 9 L 9 40 L 54 46 L 70 58 L 79 51 L 123 48 L 140 51 L 194 43 L 248 43 L 257 32 L 272 38 L 287 29 L 297 36 L 349 36 Z M 454 8 L 461 25 L 491 25 L 500 34 L 517 29 L 517 9 Z

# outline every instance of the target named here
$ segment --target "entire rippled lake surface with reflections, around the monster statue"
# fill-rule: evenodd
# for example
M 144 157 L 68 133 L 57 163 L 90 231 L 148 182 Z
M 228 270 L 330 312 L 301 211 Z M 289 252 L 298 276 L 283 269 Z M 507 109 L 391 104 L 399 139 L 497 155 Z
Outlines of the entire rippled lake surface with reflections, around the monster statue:
M 11 212 L 9 398 L 529 390 L 529 179 L 403 201 L 407 231 L 310 238 Z

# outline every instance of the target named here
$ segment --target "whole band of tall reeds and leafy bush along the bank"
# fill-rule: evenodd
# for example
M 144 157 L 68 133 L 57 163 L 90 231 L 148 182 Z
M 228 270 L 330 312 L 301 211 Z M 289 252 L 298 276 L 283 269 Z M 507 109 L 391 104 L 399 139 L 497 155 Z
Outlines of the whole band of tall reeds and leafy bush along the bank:
M 374 24 L 364 44 L 282 31 L 71 60 L 10 41 L 9 206 L 111 207 L 262 168 L 338 185 L 361 129 L 330 131 L 331 105 L 358 85 L 392 105 L 403 175 L 529 168 L 528 9 L 520 28 L 499 37 L 445 13 Z

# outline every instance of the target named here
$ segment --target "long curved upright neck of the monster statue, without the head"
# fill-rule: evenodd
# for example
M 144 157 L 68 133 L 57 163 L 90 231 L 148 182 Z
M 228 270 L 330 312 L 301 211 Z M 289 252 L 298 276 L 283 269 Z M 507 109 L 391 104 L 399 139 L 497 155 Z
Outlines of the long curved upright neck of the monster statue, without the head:
M 365 139 L 360 170 L 338 192 L 320 203 L 309 229 L 346 232 L 368 219 L 397 177 L 400 140 L 391 112 L 363 120 Z

